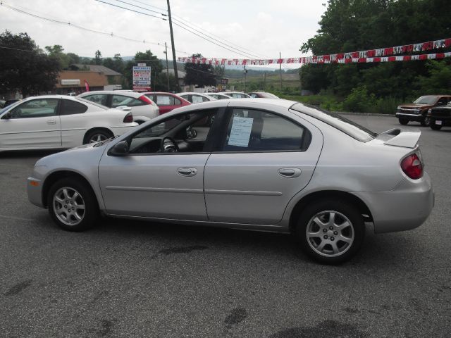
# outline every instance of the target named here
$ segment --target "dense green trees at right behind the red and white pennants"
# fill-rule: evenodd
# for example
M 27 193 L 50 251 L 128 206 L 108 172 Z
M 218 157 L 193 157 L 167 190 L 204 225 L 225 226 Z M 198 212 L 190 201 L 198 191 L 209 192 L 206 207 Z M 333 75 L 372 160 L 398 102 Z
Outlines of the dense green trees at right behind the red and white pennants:
M 451 37 L 447 5 L 445 0 L 329 0 L 320 29 L 301 50 L 337 54 L 446 39 Z M 321 94 L 313 100 L 324 108 L 385 112 L 421 94 L 450 94 L 450 73 L 449 58 L 307 64 L 299 70 L 302 89 Z

